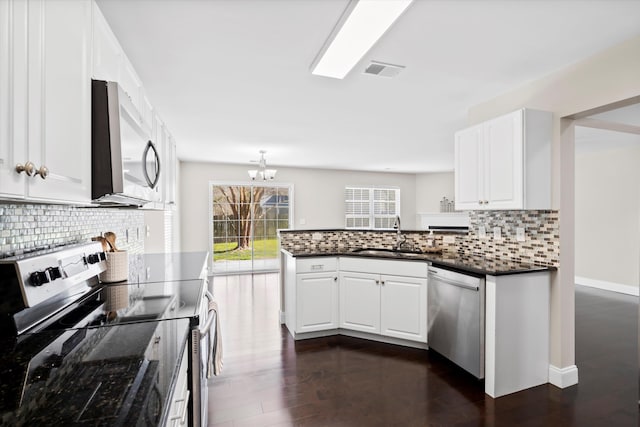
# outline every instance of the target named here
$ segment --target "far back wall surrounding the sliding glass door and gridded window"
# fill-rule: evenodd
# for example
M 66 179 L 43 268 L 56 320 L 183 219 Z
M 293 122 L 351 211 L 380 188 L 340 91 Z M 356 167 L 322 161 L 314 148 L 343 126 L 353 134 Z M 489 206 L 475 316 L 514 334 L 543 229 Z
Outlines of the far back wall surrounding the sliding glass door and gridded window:
M 249 182 L 249 165 L 180 163 L 180 223 L 183 251 L 205 251 L 209 243 L 209 181 Z M 278 167 L 276 181 L 293 184 L 296 229 L 344 228 L 344 188 L 347 185 L 400 188 L 403 228 L 416 224 L 414 174 L 352 172 Z M 305 224 L 301 224 L 304 220 Z

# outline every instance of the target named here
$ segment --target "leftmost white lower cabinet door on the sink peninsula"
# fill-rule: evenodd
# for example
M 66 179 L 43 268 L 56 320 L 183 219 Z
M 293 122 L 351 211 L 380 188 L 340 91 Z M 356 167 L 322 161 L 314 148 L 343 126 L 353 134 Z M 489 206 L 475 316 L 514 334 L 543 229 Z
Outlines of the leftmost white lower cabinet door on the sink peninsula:
M 338 273 L 298 274 L 296 332 L 338 328 Z

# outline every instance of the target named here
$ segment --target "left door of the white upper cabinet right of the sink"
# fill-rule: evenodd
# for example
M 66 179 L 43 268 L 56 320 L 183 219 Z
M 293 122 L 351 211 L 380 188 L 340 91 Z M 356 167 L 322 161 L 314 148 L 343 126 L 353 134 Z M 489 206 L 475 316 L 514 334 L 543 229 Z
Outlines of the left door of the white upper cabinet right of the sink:
M 455 203 L 458 210 L 482 209 L 482 127 L 474 126 L 455 135 Z

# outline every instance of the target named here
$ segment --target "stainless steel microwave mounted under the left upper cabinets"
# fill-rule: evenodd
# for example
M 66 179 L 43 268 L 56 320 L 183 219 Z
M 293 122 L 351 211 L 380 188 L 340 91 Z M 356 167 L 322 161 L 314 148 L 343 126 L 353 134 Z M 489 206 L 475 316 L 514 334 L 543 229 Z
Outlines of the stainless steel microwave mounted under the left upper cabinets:
M 94 203 L 160 201 L 160 153 L 137 108 L 116 82 L 91 88 L 91 195 Z

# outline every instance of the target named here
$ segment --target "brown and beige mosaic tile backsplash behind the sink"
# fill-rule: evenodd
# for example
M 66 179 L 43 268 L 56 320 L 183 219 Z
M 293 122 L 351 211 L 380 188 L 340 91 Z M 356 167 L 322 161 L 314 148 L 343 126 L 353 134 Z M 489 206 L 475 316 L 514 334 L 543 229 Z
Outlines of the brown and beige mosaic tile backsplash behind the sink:
M 454 243 L 443 243 L 444 234 L 434 232 L 436 245 L 445 252 L 461 255 L 559 267 L 558 211 L 471 211 L 469 219 L 468 234 L 449 234 L 454 236 Z M 486 229 L 486 237 L 482 239 L 478 235 L 480 226 Z M 500 239 L 493 238 L 493 227 L 500 227 Z M 517 227 L 525 228 L 524 242 L 516 240 Z M 413 242 L 415 248 L 427 248 L 428 231 L 405 231 L 402 234 L 408 242 Z M 396 238 L 395 231 L 291 230 L 280 233 L 280 245 L 293 253 L 347 252 L 362 247 L 391 249 Z

